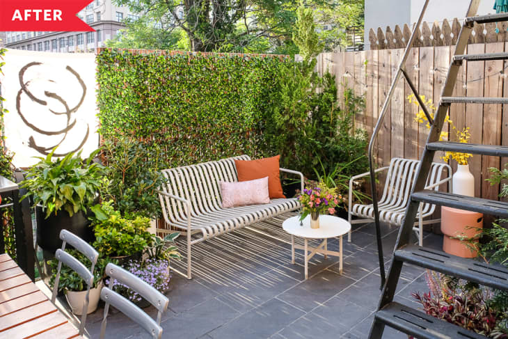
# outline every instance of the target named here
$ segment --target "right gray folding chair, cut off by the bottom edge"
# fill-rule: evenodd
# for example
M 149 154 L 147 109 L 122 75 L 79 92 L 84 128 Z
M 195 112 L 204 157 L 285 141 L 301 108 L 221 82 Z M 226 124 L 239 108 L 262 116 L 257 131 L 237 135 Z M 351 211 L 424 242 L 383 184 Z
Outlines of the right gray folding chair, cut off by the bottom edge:
M 169 300 L 164 294 L 157 291 L 154 287 L 148 285 L 134 274 L 118 267 L 111 262 L 106 265 L 106 276 L 109 276 L 109 287 L 103 287 L 100 293 L 100 299 L 102 299 L 106 306 L 104 306 L 104 318 L 102 319 L 102 325 L 100 329 L 100 339 L 104 339 L 104 332 L 106 331 L 106 317 L 109 312 L 109 305 L 111 304 L 114 308 L 127 315 L 132 321 L 136 322 L 139 326 L 143 327 L 145 331 L 150 333 L 152 338 L 160 339 L 162 336 L 161 317 L 162 313 L 168 308 Z M 157 310 L 157 322 L 134 305 L 131 301 L 122 297 L 120 294 L 113 291 L 113 281 L 116 280 L 130 289 L 134 290 L 141 297 L 148 300 Z

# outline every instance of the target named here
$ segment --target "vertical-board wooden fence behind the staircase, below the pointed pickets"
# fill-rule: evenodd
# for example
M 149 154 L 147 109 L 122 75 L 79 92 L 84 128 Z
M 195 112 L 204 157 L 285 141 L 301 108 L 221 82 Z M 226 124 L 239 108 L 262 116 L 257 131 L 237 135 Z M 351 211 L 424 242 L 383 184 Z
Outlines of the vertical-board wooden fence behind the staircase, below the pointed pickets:
M 505 42 L 468 45 L 468 53 L 508 52 Z M 427 99 L 437 105 L 443 88 L 450 56 L 454 46 L 413 48 L 406 63 L 411 79 Z M 404 49 L 384 49 L 364 52 L 324 53 L 318 56 L 317 69 L 323 73 L 329 70 L 337 77 L 340 101 L 343 101 L 344 86 L 354 88 L 358 95 L 365 96 L 366 109 L 356 116 L 356 127 L 365 128 L 372 134 L 378 113 L 381 111 L 386 94 L 390 89 L 392 75 L 402 60 Z M 455 96 L 505 97 L 508 96 L 508 82 L 504 61 L 464 63 Z M 401 78 L 392 98 L 389 113 L 379 134 L 376 155 L 380 166 L 386 166 L 392 157 L 419 159 L 422 155 L 428 130 L 415 122 L 418 107 L 407 100 L 411 89 Z M 504 107 L 505 106 L 505 107 Z M 508 145 L 508 105 L 452 104 L 450 118 L 457 129 L 470 127 L 470 143 Z M 445 131 L 449 129 L 445 125 Z M 450 133 L 450 138 L 454 136 Z M 442 152 L 438 152 L 442 155 Z M 434 161 L 442 161 L 436 156 Z M 470 170 L 475 175 L 475 195 L 498 199 L 499 185 L 491 186 L 485 180 L 490 177 L 489 167 L 500 168 L 506 158 L 475 155 L 470 159 Z M 455 168 L 454 161 L 450 164 Z

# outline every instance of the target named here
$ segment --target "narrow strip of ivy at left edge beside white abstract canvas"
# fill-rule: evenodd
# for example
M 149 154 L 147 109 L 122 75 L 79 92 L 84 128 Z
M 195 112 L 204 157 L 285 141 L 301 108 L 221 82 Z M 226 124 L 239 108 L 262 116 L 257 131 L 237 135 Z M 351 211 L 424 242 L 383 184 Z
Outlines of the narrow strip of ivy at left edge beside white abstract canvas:
M 3 61 L 3 56 L 5 56 L 7 49 L 0 48 L 0 74 L 3 75 L 2 67 L 6 64 Z M 0 81 L 1 85 L 1 81 Z M 5 148 L 5 143 L 3 141 L 6 139 L 4 129 L 3 129 L 3 114 L 8 113 L 8 110 L 3 107 L 3 102 L 6 101 L 4 97 L 1 96 L 0 91 L 0 175 L 6 177 L 10 180 L 14 179 L 14 172 L 12 166 L 13 154 L 8 152 Z M 13 223 L 13 209 L 12 207 L 3 208 L 0 210 L 1 218 L 0 222 L 2 223 L 3 228 L 3 243 L 5 246 L 6 253 L 8 253 L 12 258 L 16 258 L 16 249 L 15 249 L 15 237 L 14 237 L 14 223 Z

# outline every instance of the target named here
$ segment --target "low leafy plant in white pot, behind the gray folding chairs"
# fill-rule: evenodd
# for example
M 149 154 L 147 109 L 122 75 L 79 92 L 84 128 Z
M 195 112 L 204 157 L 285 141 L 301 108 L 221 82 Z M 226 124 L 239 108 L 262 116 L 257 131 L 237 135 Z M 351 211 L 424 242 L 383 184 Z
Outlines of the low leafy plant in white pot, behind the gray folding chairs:
M 83 254 L 81 254 L 79 251 L 76 251 L 75 249 L 65 249 L 65 252 L 72 255 L 74 258 L 79 260 L 83 265 L 90 268 L 92 265 L 92 262 L 86 258 Z M 99 259 L 97 259 L 97 263 L 95 264 L 95 268 L 93 270 L 93 286 L 97 287 L 97 284 L 102 280 L 104 277 L 104 269 L 106 269 L 106 265 L 108 265 L 109 262 L 112 262 L 115 265 L 118 265 L 118 260 L 110 259 L 104 256 L 100 256 Z M 56 258 L 53 258 L 51 260 L 48 260 L 47 262 L 49 266 L 51 267 L 51 278 L 49 280 L 49 285 L 51 287 L 54 287 L 54 282 L 56 278 L 56 271 L 58 269 L 58 260 Z M 72 270 L 67 265 L 63 265 L 60 270 L 60 281 L 58 281 L 58 291 L 63 290 L 69 290 L 74 292 L 84 291 L 86 290 L 86 283 L 79 274 L 77 274 L 74 270 Z

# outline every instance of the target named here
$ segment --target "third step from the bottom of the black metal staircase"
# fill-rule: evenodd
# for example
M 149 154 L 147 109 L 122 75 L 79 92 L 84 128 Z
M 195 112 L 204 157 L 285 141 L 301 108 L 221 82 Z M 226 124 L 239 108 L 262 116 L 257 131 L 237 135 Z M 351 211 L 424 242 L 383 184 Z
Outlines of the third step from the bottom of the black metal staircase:
M 459 208 L 460 210 L 508 217 L 508 203 L 503 201 L 474 198 L 472 196 L 459 196 L 458 194 L 431 191 L 428 189 L 414 192 L 411 194 L 411 199 L 424 203 Z

